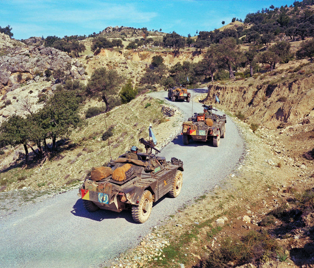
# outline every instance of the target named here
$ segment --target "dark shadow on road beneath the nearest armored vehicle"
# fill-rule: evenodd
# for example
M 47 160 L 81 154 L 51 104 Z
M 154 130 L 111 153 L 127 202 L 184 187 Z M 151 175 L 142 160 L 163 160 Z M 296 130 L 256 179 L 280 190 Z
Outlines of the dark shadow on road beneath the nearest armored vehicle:
M 84 206 L 82 199 L 78 199 L 73 205 L 73 210 L 70 211 L 74 216 L 88 218 L 93 221 L 101 222 L 106 219 L 124 218 L 127 222 L 133 222 L 131 211 L 113 212 L 109 210 L 99 209 L 95 212 L 88 212 Z

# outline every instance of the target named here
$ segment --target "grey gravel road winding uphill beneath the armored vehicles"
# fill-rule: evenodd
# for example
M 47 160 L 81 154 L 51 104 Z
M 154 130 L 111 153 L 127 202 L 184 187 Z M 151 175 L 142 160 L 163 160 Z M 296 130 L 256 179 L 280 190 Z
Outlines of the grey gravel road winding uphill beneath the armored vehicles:
M 189 91 L 194 96 L 206 92 L 205 89 Z M 169 101 L 166 91 L 152 95 Z M 192 101 L 171 103 L 185 113 L 186 119 L 191 116 Z M 203 111 L 201 104 L 193 103 L 193 111 Z M 219 147 L 204 142 L 183 145 L 179 135 L 160 155 L 167 160 L 176 157 L 183 161 L 181 193 L 175 199 L 165 196 L 156 202 L 143 224 L 134 223 L 130 211 L 86 212 L 76 189 L 23 206 L 0 218 L 0 266 L 85 268 L 110 265 L 111 258 L 137 245 L 140 237 L 150 233 L 161 220 L 221 184 L 237 167 L 243 151 L 243 140 L 228 117 L 226 136 L 220 140 Z

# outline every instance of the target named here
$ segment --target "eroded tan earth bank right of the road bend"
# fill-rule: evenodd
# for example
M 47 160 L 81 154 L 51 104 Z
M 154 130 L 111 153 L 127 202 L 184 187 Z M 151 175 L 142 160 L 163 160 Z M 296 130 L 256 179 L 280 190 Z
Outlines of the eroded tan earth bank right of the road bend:
M 280 123 L 296 124 L 314 116 L 314 75 L 290 83 L 258 86 L 208 85 L 202 101 L 213 104 L 218 95 L 219 107 L 241 112 L 246 122 L 276 127 Z

